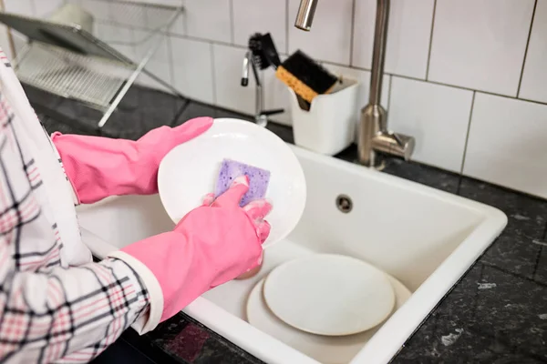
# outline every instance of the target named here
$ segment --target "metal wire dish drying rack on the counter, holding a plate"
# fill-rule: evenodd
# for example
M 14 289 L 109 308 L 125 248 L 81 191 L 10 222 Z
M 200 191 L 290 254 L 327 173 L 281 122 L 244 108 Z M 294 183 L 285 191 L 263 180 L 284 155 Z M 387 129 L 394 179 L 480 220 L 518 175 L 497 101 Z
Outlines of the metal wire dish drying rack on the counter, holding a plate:
M 69 0 L 67 4 L 80 2 Z M 28 37 L 14 61 L 18 78 L 29 86 L 100 111 L 98 128 L 105 126 L 141 74 L 184 97 L 145 67 L 183 7 L 124 0 L 108 0 L 104 4 L 110 6 L 111 14 L 122 15 L 121 20 L 92 18 L 92 23 L 82 26 L 0 12 L 0 22 Z M 99 39 L 94 33 L 100 25 L 128 28 L 132 40 Z

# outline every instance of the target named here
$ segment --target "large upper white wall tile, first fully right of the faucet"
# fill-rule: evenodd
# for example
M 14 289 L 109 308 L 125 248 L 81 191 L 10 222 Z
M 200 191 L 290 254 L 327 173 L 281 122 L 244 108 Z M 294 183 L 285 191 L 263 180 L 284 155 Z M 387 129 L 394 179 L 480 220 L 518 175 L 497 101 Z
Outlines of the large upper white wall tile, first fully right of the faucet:
M 438 0 L 428 79 L 516 96 L 534 0 Z

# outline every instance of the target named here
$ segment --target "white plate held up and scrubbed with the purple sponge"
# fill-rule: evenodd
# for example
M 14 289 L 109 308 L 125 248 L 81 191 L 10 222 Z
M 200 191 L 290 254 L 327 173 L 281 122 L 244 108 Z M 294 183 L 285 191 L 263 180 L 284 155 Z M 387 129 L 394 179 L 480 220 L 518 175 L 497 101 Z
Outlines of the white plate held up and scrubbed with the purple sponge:
M 160 163 L 160 198 L 173 222 L 201 205 L 214 192 L 222 159 L 271 172 L 266 198 L 274 209 L 266 217 L 272 231 L 264 247 L 285 238 L 304 212 L 304 171 L 291 148 L 268 129 L 248 121 L 215 119 L 209 130 L 173 148 Z

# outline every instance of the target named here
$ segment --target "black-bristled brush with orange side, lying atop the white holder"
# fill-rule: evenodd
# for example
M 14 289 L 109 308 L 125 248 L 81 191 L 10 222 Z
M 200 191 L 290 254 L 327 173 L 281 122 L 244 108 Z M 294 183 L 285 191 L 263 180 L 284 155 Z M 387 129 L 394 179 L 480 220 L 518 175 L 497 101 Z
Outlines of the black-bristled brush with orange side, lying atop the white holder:
M 275 76 L 309 103 L 315 96 L 331 92 L 338 81 L 338 77 L 300 50 L 277 67 Z

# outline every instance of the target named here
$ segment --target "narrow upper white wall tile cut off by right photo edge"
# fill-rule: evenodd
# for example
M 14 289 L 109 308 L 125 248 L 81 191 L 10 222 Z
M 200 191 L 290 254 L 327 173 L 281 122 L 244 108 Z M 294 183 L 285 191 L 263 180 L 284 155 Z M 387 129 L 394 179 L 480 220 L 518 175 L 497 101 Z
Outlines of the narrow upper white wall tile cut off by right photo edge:
M 547 0 L 538 0 L 519 97 L 547 103 Z

